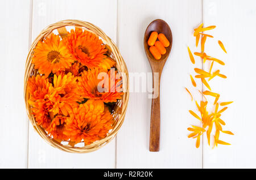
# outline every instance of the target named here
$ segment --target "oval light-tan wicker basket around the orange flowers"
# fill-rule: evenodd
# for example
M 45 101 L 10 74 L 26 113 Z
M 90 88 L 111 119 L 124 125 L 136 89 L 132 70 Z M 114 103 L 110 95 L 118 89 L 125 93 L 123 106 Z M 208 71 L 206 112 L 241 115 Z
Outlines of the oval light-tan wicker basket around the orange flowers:
M 38 71 L 34 69 L 34 65 L 31 63 L 32 55 L 34 53 L 34 48 L 38 44 L 38 41 L 42 41 L 44 37 L 47 37 L 55 29 L 57 29 L 61 37 L 65 36 L 65 33 L 67 33 L 67 30 L 65 27 L 67 26 L 82 27 L 82 28 L 85 28 L 87 31 L 93 32 L 97 36 L 99 36 L 104 42 L 104 44 L 106 44 L 106 48 L 108 49 L 108 55 L 112 57 L 114 61 L 116 61 L 117 63 L 116 67 L 118 72 L 123 72 L 122 88 L 124 93 L 123 93 L 122 99 L 118 100 L 112 112 L 112 115 L 115 119 L 113 130 L 110 131 L 109 134 L 104 139 L 98 140 L 90 145 L 85 145 L 85 146 L 81 145 L 84 143 L 80 143 L 80 145 L 76 144 L 75 146 L 73 146 L 71 142 L 68 142 L 68 141 L 57 142 L 56 140 L 52 139 L 49 135 L 47 135 L 47 132 L 44 130 L 44 128 L 37 125 L 34 115 L 32 115 L 31 106 L 28 104 L 28 98 L 30 97 L 30 95 L 27 92 L 27 81 L 29 77 L 36 76 L 38 74 Z M 127 71 L 125 62 L 123 61 L 123 58 L 119 53 L 119 50 L 117 46 L 114 44 L 114 42 L 100 28 L 96 27 L 95 25 L 88 22 L 83 22 L 81 20 L 63 20 L 55 24 L 49 25 L 46 29 L 40 32 L 40 35 L 36 37 L 35 41 L 32 43 L 30 51 L 27 56 L 26 68 L 25 68 L 24 100 L 26 103 L 28 118 L 30 119 L 30 122 L 32 123 L 35 131 L 38 132 L 38 134 L 44 140 L 46 140 L 46 142 L 51 144 L 53 147 L 61 149 L 66 152 L 73 152 L 73 153 L 87 153 L 103 147 L 105 144 L 109 143 L 115 137 L 115 135 L 117 135 L 117 132 L 121 127 L 123 120 L 125 118 L 128 99 L 129 99 L 129 76 L 128 76 L 128 71 Z

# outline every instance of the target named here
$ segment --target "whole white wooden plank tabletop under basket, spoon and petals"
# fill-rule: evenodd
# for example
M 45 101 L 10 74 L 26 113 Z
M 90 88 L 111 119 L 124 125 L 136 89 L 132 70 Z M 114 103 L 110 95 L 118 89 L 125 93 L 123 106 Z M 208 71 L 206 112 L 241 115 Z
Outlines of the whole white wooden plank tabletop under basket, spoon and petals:
M 151 100 L 147 92 L 131 93 L 125 122 L 117 138 L 88 154 L 51 147 L 34 132 L 23 100 L 24 65 L 28 48 L 47 25 L 79 19 L 100 27 L 118 45 L 129 72 L 150 72 L 143 35 L 154 19 L 172 29 L 173 45 L 162 74 L 160 152 L 149 152 Z M 96 0 L 0 1 L 0 168 L 256 168 L 255 101 L 256 1 L 254 0 Z M 191 87 L 187 45 L 195 51 L 192 29 L 201 22 L 217 25 L 216 39 L 205 49 L 224 59 L 226 80 L 214 90 L 234 104 L 223 114 L 232 143 L 211 149 L 207 138 L 195 148 L 187 127 L 197 121 L 195 105 L 184 87 Z M 224 42 L 222 53 L 217 40 Z M 197 61 L 197 66 L 201 66 Z

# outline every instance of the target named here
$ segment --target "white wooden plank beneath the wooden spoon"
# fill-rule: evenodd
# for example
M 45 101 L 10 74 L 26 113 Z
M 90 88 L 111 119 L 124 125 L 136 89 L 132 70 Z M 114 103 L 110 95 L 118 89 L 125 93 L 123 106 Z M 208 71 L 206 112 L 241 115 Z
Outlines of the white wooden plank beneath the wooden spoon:
M 196 149 L 195 140 L 187 138 L 187 127 L 197 123 L 188 113 L 195 105 L 184 90 L 192 88 L 189 73 L 194 66 L 189 62 L 187 45 L 195 49 L 192 29 L 200 24 L 201 12 L 201 1 L 118 1 L 118 45 L 129 72 L 151 72 L 143 36 L 152 20 L 163 19 L 170 25 L 173 44 L 160 90 L 160 151 L 148 150 L 148 93 L 131 93 L 126 119 L 117 136 L 117 168 L 201 168 L 201 148 Z M 196 66 L 201 67 L 200 59 Z

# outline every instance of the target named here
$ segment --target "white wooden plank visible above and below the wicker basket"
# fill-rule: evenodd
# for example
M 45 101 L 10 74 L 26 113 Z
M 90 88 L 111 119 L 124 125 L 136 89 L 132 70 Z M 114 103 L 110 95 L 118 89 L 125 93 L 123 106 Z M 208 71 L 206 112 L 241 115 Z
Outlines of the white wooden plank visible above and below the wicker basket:
M 79 19 L 100 27 L 116 41 L 117 2 L 34 1 L 32 40 L 47 25 L 64 19 Z M 30 127 L 29 168 L 115 168 L 115 140 L 102 149 L 86 154 L 72 154 L 44 142 Z

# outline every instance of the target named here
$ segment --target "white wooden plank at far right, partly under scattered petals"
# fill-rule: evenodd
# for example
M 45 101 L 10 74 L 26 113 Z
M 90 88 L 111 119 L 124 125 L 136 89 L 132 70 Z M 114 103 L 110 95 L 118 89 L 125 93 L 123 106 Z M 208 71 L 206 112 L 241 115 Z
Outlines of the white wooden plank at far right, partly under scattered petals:
M 221 101 L 234 100 L 222 119 L 225 130 L 235 134 L 221 134 L 220 139 L 232 145 L 218 145 L 215 149 L 210 149 L 204 138 L 204 168 L 256 168 L 255 19 L 256 1 L 204 1 L 205 26 L 217 25 L 210 32 L 214 40 L 207 41 L 205 51 L 224 60 L 226 65 L 221 70 L 228 76 L 225 80 L 214 79 L 210 85 L 213 91 L 220 92 Z M 224 43 L 228 54 L 222 52 L 218 40 Z

